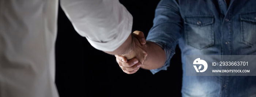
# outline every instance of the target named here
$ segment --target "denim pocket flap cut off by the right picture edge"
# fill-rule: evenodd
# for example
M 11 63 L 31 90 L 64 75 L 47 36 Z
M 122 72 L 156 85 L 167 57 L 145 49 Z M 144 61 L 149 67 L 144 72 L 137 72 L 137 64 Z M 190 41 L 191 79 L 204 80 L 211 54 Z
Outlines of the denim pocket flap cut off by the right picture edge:
M 240 19 L 249 22 L 256 22 L 256 12 L 248 12 L 240 14 Z

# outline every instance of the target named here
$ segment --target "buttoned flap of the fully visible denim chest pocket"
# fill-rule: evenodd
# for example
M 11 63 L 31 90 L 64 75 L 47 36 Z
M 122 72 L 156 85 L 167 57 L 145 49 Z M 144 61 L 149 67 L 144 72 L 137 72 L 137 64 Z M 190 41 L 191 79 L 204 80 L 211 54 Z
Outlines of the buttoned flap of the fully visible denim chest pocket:
M 185 24 L 191 24 L 194 26 L 206 26 L 214 22 L 213 15 L 200 15 L 200 16 L 187 16 L 185 17 Z

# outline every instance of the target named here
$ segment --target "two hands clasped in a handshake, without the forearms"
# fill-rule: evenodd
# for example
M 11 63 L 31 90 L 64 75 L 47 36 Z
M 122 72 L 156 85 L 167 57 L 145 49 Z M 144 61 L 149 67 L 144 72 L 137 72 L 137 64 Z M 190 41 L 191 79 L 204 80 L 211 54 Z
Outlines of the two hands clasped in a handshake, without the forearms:
M 115 54 L 117 63 L 125 73 L 133 74 L 143 65 L 147 57 L 146 45 L 144 44 L 146 44 L 146 39 L 143 32 L 134 31 L 132 34 L 132 43 L 129 50 L 126 51 L 127 53 L 121 55 Z

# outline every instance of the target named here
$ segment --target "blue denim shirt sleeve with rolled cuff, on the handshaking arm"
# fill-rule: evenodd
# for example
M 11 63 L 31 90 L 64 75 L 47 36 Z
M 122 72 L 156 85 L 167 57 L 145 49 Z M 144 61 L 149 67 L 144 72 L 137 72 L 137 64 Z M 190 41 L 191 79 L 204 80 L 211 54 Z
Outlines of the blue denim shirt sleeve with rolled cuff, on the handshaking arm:
M 148 32 L 147 41 L 158 44 L 165 51 L 165 65 L 158 69 L 150 70 L 155 74 L 160 70 L 167 70 L 170 59 L 175 54 L 178 38 L 183 29 L 178 3 L 175 0 L 161 0 L 155 9 L 153 27 Z

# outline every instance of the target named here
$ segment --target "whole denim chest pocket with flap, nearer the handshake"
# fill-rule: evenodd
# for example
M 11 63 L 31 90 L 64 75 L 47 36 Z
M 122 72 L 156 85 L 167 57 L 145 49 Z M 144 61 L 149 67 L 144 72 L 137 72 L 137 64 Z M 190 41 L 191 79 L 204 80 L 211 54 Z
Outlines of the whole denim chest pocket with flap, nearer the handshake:
M 188 45 L 205 49 L 214 45 L 214 16 L 185 17 L 185 38 Z

